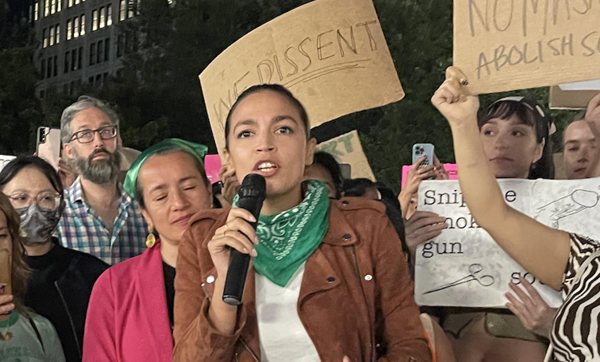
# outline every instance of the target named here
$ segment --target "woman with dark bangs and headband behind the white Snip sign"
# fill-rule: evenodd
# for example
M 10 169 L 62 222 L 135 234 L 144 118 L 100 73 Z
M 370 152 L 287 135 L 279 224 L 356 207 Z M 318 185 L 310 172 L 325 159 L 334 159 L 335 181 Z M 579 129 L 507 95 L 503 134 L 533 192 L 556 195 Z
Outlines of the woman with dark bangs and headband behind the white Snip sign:
M 507 97 L 493 102 L 478 116 L 479 138 L 490 169 L 497 179 L 537 179 L 552 178 L 554 174 L 550 129 L 551 124 L 542 108 L 523 97 Z M 405 188 L 416 192 L 418 184 L 425 177 L 433 176 L 434 167 L 413 170 Z M 460 173 L 460 171 L 459 171 Z M 410 175 L 409 175 L 410 176 Z M 410 183 L 410 185 L 409 185 Z M 406 198 L 406 195 L 404 195 Z M 406 221 L 407 244 L 412 255 L 416 247 L 442 233 L 446 228 L 445 219 L 431 212 L 416 211 Z M 527 280 L 521 280 L 529 286 Z M 521 289 L 511 285 L 514 292 Z M 512 295 L 509 294 L 509 298 Z M 551 323 L 554 309 L 541 298 L 531 295 L 536 313 L 535 328 L 527 330 L 519 320 L 523 316 L 515 309 L 519 304 L 514 299 L 511 310 L 490 310 L 487 313 L 473 309 L 454 310 L 441 322 L 451 334 L 457 359 L 460 361 L 482 361 L 485 356 L 497 357 L 497 361 L 533 361 L 544 357 L 549 330 L 544 328 Z

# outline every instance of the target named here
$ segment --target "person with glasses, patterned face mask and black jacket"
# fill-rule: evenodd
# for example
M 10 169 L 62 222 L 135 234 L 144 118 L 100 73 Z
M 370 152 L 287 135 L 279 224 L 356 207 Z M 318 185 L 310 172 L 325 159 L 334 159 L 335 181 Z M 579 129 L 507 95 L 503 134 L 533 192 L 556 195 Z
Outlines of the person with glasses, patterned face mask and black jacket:
M 25 262 L 33 272 L 25 305 L 52 322 L 67 361 L 81 361 L 89 297 L 108 264 L 52 236 L 64 200 L 60 176 L 46 161 L 13 159 L 0 171 L 0 190 L 20 215 Z

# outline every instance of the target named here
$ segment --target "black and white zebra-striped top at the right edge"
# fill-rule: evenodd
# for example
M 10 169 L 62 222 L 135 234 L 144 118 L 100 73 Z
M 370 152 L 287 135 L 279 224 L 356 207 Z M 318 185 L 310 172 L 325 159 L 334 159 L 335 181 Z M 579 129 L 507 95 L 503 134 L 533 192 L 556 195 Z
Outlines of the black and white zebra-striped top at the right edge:
M 600 258 L 592 256 L 599 249 L 600 243 L 571 234 L 571 254 L 562 286 L 564 302 L 551 332 L 557 361 L 600 361 Z M 590 256 L 593 259 L 580 270 Z

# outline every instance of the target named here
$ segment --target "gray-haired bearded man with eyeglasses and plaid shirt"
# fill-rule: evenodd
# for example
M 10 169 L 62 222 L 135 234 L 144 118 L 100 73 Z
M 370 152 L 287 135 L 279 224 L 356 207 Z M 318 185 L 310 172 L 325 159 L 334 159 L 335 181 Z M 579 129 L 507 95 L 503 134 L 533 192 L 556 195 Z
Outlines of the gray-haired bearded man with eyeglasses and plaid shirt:
M 63 153 L 79 177 L 65 190 L 56 229 L 62 245 L 116 264 L 142 254 L 147 225 L 118 183 L 119 119 L 104 102 L 80 96 L 61 116 Z

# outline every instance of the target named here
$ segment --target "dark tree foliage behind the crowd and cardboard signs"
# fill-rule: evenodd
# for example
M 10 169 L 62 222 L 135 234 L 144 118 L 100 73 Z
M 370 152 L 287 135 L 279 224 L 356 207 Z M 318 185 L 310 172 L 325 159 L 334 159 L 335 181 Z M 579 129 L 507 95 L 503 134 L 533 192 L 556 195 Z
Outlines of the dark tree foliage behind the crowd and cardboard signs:
M 122 119 L 121 134 L 126 146 L 142 150 L 163 138 L 179 137 L 208 144 L 215 152 L 199 74 L 236 40 L 307 2 L 310 1 L 177 0 L 175 7 L 169 7 L 166 0 L 143 0 L 138 16 L 118 24 L 127 40 L 124 68 L 103 88 L 86 88 L 82 93 L 115 105 Z M 398 190 L 401 167 L 410 163 L 414 143 L 433 143 L 442 161 L 454 161 L 450 129 L 430 104 L 446 67 L 452 64 L 452 2 L 374 0 L 374 4 L 406 97 L 395 104 L 325 123 L 313 134 L 324 141 L 358 129 L 377 179 Z M 14 34 L 13 27 L 2 26 L 2 20 L 0 17 L 0 32 Z M 6 39 L 2 36 L 0 41 Z M 9 46 L 0 43 L 0 51 L 3 47 Z M 25 54 L 21 56 L 26 58 Z M 15 58 L 0 55 L 0 66 L 10 63 L 9 59 Z M 12 107 L 8 114 L 0 112 L 0 152 L 8 153 L 27 150 L 25 144 L 31 147 L 32 125 L 37 126 L 40 119 L 47 125 L 57 125 L 62 109 L 73 101 L 60 94 L 50 95 L 44 99 L 41 116 L 32 93 L 33 66 L 13 61 L 12 67 L 5 73 L 5 67 L 0 68 L 0 107 Z M 17 71 L 16 67 L 22 68 Z M 5 81 L 1 74 L 11 77 Z M 547 104 L 548 99 L 547 89 L 529 89 L 484 95 L 482 106 L 508 94 L 530 96 L 542 104 Z M 7 97 L 12 100 L 4 101 Z M 571 116 L 566 112 L 551 115 L 559 131 Z M 10 144 L 18 146 L 2 147 L 2 137 L 7 134 L 11 135 Z M 17 137 L 24 141 L 16 141 Z

